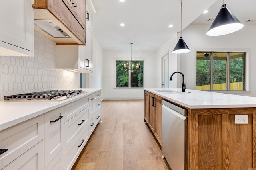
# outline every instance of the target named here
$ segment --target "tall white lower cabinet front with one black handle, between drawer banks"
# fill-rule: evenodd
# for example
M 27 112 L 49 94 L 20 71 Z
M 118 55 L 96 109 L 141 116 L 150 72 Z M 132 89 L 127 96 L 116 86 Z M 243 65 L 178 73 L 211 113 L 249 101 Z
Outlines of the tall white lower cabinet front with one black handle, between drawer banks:
M 44 113 L 44 167 L 64 147 L 64 106 Z

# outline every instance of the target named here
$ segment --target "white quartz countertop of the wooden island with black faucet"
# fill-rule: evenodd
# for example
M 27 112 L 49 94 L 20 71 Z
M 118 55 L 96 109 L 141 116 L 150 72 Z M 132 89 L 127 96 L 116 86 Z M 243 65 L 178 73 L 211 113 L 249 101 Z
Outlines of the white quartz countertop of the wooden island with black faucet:
M 256 98 L 249 96 L 190 89 L 182 92 L 181 88 L 146 88 L 145 90 L 190 109 L 256 107 Z

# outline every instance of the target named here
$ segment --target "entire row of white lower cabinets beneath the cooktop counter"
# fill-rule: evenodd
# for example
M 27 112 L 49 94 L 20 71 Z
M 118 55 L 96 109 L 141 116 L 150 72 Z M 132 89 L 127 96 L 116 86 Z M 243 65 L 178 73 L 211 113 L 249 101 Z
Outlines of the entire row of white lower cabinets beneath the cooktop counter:
M 0 131 L 0 170 L 70 170 L 101 118 L 100 102 L 99 90 Z

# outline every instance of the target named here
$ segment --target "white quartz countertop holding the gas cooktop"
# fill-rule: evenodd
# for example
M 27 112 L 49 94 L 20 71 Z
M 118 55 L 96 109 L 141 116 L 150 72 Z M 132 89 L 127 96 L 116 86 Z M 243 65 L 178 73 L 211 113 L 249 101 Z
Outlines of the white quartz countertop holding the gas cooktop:
M 0 101 L 0 131 L 44 114 L 48 111 L 74 102 L 101 89 L 85 89 L 87 93 L 80 94 L 62 101 Z

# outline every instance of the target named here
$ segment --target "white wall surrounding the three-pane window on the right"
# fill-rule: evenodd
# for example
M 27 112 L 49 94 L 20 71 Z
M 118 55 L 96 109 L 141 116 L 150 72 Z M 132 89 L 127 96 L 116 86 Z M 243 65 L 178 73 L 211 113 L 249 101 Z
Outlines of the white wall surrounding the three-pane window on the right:
M 247 77 L 249 93 L 240 95 L 256 97 L 256 26 L 244 26 L 235 33 L 210 37 L 206 35 L 210 25 L 189 25 L 182 31 L 182 37 L 190 48 L 189 53 L 180 55 L 180 70 L 185 75 L 186 87 L 196 89 L 196 51 L 240 51 L 247 52 Z

